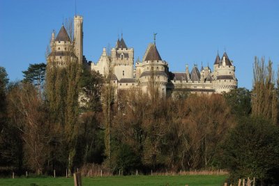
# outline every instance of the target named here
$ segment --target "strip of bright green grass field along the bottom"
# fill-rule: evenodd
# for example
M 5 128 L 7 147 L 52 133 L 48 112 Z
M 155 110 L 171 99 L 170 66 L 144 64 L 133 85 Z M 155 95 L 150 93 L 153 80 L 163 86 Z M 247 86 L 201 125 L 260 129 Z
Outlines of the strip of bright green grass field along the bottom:
M 133 185 L 189 185 L 189 186 L 220 186 L 227 176 L 110 176 L 82 178 L 82 186 L 133 186 Z M 2 186 L 71 186 L 73 178 L 0 178 Z

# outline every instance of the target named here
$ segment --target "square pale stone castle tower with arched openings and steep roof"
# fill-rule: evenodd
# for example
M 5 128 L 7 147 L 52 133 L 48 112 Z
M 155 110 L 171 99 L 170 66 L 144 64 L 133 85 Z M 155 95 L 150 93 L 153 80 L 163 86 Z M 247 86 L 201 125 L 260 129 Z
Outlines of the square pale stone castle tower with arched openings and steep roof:
M 134 77 L 134 49 L 128 48 L 123 35 L 117 39 L 116 46 L 111 51 L 111 61 L 117 79 Z

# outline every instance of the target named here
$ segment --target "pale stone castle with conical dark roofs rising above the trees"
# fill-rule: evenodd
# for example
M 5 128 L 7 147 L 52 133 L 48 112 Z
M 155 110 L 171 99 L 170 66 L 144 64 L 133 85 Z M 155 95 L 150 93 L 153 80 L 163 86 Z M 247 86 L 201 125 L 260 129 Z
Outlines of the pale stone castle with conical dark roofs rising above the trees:
M 55 62 L 59 66 L 65 66 L 69 61 L 77 61 L 86 65 L 90 70 L 95 70 L 101 75 L 110 73 L 110 82 L 118 91 L 142 90 L 149 91 L 150 84 L 156 85 L 160 95 L 167 93 L 175 95 L 181 92 L 190 93 L 222 93 L 237 87 L 238 80 L 235 76 L 235 66 L 224 52 L 220 58 L 217 54 L 213 63 L 213 71 L 209 66 L 201 67 L 194 65 L 190 71 L 188 65 L 183 72 L 170 72 L 167 61 L 161 59 L 154 42 L 149 44 L 142 61 L 137 59 L 134 63 L 134 49 L 128 47 L 121 36 L 116 41 L 116 46 L 107 54 L 106 48 L 97 63 L 87 62 L 83 56 L 83 17 L 74 17 L 73 40 L 70 39 L 64 26 L 57 36 L 52 33 L 50 43 L 51 53 L 48 62 Z

